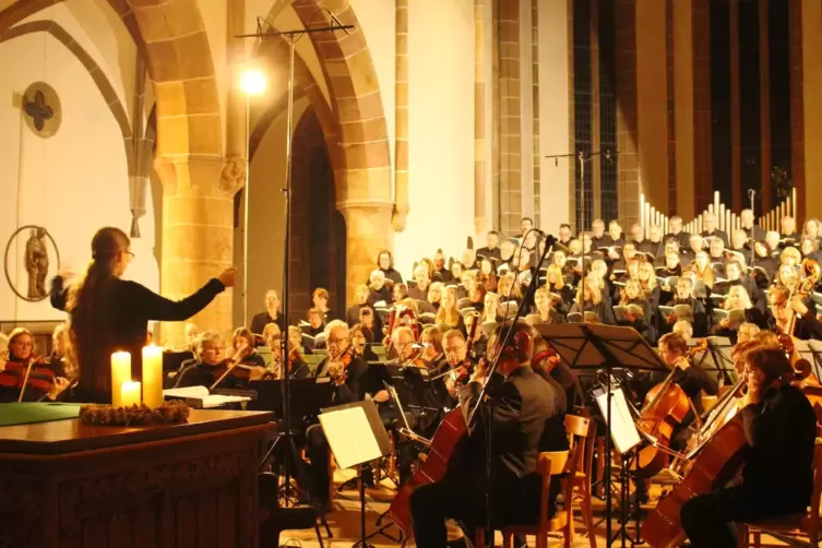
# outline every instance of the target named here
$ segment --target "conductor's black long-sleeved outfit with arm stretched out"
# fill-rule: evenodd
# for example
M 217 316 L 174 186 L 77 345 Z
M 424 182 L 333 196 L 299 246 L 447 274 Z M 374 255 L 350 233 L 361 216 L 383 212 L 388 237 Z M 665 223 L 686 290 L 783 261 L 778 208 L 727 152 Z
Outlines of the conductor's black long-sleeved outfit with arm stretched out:
M 148 320 L 179 322 L 188 320 L 225 290 L 216 278 L 210 279 L 193 295 L 180 301 L 174 301 L 157 295 L 136 282 L 127 282 L 112 277 L 106 284 L 104 295 L 97 296 L 99 307 L 96 318 L 97 339 L 84 359 L 96 364 L 106 364 L 111 354 L 118 350 L 131 353 L 131 374 L 136 380 L 143 377 L 143 346 L 145 346 Z M 51 281 L 51 306 L 65 310 L 68 287 L 63 278 L 56 276 Z M 82 378 L 82 370 L 80 376 Z M 81 380 L 82 382 L 82 380 Z M 110 391 L 110 389 L 109 389 Z M 82 391 L 79 391 L 82 392 Z M 111 401 L 110 392 L 87 394 L 93 401 Z

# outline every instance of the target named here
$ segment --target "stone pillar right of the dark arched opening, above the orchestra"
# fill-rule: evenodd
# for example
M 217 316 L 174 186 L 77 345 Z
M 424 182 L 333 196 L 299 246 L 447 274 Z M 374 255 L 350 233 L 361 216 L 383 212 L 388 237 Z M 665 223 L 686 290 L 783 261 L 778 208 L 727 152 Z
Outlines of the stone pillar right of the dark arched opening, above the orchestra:
M 374 269 L 377 254 L 383 249 L 391 249 L 393 203 L 372 199 L 349 199 L 337 202 L 337 210 L 345 217 L 346 294 L 350 298 L 356 294 L 357 286 L 368 279 Z

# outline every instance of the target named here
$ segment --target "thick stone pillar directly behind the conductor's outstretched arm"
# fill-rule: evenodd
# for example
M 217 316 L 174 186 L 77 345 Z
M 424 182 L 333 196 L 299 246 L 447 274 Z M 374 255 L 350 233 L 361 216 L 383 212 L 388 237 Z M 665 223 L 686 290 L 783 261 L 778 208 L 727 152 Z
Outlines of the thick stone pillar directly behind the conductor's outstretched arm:
M 158 158 L 163 181 L 160 287 L 169 299 L 196 291 L 233 262 L 234 194 L 242 184 L 245 163 L 221 157 Z M 229 335 L 233 290 L 227 289 L 190 321 Z M 164 346 L 183 343 L 184 322 L 163 322 Z

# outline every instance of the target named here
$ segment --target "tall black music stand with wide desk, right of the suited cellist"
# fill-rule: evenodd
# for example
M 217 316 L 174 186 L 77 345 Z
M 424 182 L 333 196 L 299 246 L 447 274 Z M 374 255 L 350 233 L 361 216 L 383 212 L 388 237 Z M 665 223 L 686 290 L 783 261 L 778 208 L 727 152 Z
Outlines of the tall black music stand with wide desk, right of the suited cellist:
M 608 379 L 606 393 L 607 414 L 605 422 L 605 509 L 606 546 L 611 546 L 613 508 L 611 504 L 611 376 L 613 369 L 634 371 L 666 370 L 654 348 L 633 327 L 619 327 L 596 323 L 548 323 L 535 326 L 543 338 L 551 345 L 560 358 L 572 369 L 605 369 Z M 620 529 L 622 546 L 626 531 Z

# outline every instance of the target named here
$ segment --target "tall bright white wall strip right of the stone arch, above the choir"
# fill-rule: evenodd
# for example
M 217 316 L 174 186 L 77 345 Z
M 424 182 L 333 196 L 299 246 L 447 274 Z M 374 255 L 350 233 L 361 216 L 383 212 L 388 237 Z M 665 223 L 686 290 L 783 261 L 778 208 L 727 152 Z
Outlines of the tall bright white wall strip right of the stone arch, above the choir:
M 460 257 L 474 236 L 474 3 L 409 4 L 410 214 L 394 237 L 403 276 L 437 248 Z M 382 80 L 381 87 L 384 96 Z

